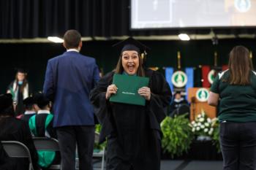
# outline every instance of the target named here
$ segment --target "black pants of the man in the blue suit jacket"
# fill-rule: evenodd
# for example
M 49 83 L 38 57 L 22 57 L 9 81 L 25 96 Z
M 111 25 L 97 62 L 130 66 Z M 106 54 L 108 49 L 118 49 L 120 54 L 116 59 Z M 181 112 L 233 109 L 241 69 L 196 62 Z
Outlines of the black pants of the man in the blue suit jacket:
M 75 170 L 75 149 L 78 144 L 80 170 L 92 170 L 94 125 L 76 125 L 57 128 L 61 151 L 61 170 Z

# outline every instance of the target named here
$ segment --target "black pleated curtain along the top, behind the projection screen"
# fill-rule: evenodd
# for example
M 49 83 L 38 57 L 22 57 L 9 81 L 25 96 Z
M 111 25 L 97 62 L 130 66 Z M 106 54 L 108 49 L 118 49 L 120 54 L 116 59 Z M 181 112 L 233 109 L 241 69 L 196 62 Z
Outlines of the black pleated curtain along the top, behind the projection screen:
M 211 28 L 131 30 L 129 0 L 1 0 L 0 39 L 63 36 L 75 28 L 82 36 L 209 34 Z M 214 28 L 217 34 L 255 34 L 255 28 Z

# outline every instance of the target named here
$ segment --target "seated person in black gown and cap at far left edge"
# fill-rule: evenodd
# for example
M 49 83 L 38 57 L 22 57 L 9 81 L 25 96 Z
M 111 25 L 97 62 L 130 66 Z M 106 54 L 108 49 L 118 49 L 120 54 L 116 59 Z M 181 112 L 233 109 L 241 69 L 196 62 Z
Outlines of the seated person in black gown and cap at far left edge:
M 37 170 L 37 151 L 34 147 L 29 125 L 25 121 L 15 118 L 12 103 L 12 95 L 10 93 L 0 95 L 0 140 L 18 141 L 25 144 L 29 148 L 34 170 Z M 12 163 L 17 164 L 17 169 L 29 169 L 29 161 L 26 158 L 12 159 Z

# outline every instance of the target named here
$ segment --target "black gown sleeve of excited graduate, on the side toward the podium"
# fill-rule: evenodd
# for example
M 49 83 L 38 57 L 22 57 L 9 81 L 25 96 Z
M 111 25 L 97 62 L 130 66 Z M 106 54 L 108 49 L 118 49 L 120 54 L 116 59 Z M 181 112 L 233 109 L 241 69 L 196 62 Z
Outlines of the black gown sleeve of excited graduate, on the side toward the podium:
M 170 86 L 159 72 L 151 72 L 149 88 L 151 89 L 151 98 L 147 102 L 147 109 L 151 128 L 161 131 L 160 123 L 165 119 L 167 106 L 170 104 L 172 93 Z

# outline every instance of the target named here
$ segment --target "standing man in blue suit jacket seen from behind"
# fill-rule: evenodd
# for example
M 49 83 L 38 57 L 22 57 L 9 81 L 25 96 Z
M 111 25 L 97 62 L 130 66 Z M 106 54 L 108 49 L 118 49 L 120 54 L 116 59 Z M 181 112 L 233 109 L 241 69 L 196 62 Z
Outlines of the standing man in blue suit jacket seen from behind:
M 81 35 L 76 30 L 64 34 L 67 52 L 48 61 L 43 93 L 53 101 L 53 127 L 61 151 L 61 169 L 75 170 L 78 144 L 80 170 L 92 170 L 94 112 L 89 93 L 99 80 L 94 58 L 79 53 Z

